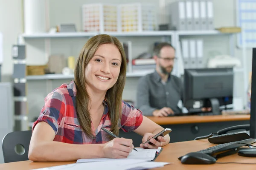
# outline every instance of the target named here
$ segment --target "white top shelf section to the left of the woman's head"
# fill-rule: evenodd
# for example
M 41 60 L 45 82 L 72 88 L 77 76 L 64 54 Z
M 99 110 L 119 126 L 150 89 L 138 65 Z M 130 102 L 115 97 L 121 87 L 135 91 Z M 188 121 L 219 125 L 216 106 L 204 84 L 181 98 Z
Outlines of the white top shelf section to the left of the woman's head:
M 65 38 L 65 37 L 93 37 L 98 32 L 63 32 L 63 33 L 35 33 L 22 34 L 23 38 Z

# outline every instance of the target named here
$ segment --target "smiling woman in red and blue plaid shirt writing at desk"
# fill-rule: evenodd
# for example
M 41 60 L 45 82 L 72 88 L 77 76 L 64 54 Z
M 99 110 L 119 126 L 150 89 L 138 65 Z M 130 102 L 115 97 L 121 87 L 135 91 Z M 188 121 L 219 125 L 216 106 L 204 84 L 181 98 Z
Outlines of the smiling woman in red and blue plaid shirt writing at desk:
M 44 107 L 32 126 L 29 159 L 74 161 L 87 158 L 126 158 L 134 148 L 131 139 L 114 138 L 121 128 L 143 136 L 142 143 L 163 130 L 122 101 L 126 59 L 116 37 L 101 34 L 82 48 L 75 67 L 75 80 L 63 84 L 45 98 Z M 150 139 L 141 147 L 157 148 L 170 137 Z

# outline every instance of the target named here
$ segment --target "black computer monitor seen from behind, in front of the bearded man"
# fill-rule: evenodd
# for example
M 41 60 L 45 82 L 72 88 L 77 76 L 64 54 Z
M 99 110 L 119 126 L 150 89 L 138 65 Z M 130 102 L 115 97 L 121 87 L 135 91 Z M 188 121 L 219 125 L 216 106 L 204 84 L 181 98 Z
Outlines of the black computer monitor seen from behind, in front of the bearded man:
M 232 103 L 233 68 L 185 69 L 183 105 L 189 112 L 211 107 L 218 115 L 220 106 Z

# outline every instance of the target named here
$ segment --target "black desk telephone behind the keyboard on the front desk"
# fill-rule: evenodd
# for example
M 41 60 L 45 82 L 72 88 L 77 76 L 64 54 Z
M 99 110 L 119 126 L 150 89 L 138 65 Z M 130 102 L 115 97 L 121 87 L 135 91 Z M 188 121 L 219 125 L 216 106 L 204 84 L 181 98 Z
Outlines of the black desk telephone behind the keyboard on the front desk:
M 217 132 L 217 135 L 211 133 L 208 136 L 201 136 L 195 138 L 195 140 L 206 138 L 212 144 L 224 144 L 228 142 L 250 139 L 250 125 L 237 125 L 227 127 L 225 129 L 219 130 Z

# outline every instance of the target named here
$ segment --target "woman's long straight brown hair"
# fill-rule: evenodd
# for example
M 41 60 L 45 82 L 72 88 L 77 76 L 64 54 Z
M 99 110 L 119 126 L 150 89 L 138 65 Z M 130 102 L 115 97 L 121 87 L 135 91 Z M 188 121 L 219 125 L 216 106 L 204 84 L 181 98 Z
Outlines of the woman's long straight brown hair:
M 90 97 L 86 91 L 86 81 L 84 71 L 93 55 L 102 44 L 113 44 L 119 49 L 122 56 L 119 77 L 112 88 L 108 89 L 105 99 L 108 104 L 108 114 L 111 119 L 111 131 L 119 134 L 119 119 L 122 111 L 122 91 L 125 86 L 126 78 L 126 57 L 122 44 L 116 37 L 106 34 L 96 35 L 90 38 L 82 48 L 75 66 L 75 83 L 76 83 L 76 114 L 81 129 L 88 137 L 92 137 L 91 118 L 88 109 Z

